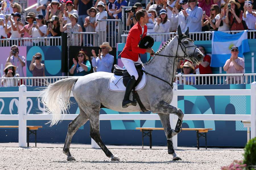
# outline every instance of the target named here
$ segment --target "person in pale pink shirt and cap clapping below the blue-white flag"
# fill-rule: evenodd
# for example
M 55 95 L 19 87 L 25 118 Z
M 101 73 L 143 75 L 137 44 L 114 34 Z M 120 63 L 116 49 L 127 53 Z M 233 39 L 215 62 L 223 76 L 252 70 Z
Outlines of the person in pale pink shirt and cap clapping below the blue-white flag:
M 227 74 L 244 73 L 244 60 L 238 57 L 238 53 L 238 47 L 233 46 L 231 48 L 231 57 L 226 61 L 223 67 Z M 241 78 L 241 76 L 227 76 L 225 81 L 227 84 L 242 84 L 243 78 Z

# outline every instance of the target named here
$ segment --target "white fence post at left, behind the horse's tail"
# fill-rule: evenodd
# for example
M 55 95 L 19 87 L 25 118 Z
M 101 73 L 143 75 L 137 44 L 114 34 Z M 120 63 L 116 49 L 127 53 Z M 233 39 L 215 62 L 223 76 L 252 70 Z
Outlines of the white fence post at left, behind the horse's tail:
M 22 84 L 19 86 L 19 147 L 26 147 L 27 143 L 27 120 L 24 120 L 24 114 L 27 114 L 27 87 Z

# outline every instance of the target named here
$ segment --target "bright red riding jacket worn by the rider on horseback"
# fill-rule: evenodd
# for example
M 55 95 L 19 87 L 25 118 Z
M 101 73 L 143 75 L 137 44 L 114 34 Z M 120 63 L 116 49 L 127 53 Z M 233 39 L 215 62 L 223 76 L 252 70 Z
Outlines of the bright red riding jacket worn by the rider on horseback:
M 144 25 L 144 33 L 142 33 L 141 25 L 137 22 L 130 29 L 125 47 L 123 51 L 119 54 L 122 58 L 132 59 L 133 61 L 138 61 L 139 54 L 145 54 L 146 49 L 139 48 L 138 44 L 142 38 L 147 35 L 147 26 Z

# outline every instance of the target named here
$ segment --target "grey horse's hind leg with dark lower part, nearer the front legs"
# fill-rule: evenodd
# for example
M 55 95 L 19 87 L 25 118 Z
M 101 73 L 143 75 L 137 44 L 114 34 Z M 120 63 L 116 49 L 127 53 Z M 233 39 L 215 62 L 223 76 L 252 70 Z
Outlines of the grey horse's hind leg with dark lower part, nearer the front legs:
M 90 136 L 91 138 L 100 146 L 103 152 L 107 157 L 111 158 L 111 161 L 120 161 L 117 156 L 112 154 L 110 150 L 104 145 L 100 138 L 100 121 L 99 121 L 99 112 L 100 110 L 96 109 L 92 111 L 92 115 L 90 115 Z

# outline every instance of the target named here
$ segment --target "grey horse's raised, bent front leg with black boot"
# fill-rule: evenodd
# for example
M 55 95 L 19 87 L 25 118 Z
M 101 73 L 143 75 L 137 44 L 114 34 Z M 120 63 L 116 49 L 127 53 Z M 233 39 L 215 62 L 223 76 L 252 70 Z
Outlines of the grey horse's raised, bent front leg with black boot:
M 176 114 L 178 116 L 178 121 L 174 130 L 174 132 L 176 133 L 173 133 L 172 136 L 182 131 L 182 120 L 183 120 L 184 113 L 181 111 L 181 109 L 174 107 L 166 103 L 165 101 L 160 101 L 157 105 L 156 110 L 158 110 L 157 113 Z

